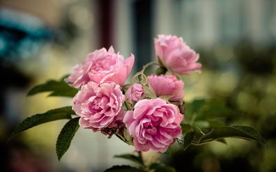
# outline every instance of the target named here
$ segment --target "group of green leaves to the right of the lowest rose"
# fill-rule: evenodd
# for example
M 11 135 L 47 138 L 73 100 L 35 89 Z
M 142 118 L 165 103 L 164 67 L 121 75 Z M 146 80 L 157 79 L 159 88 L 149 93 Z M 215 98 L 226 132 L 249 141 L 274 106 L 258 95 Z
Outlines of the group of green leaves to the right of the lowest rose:
M 240 116 L 236 111 L 216 100 L 194 100 L 186 103 L 186 123 L 182 123 L 183 136 L 177 142 L 186 150 L 190 144 L 201 145 L 211 141 L 226 144 L 224 138 L 242 138 L 266 144 L 264 138 L 252 127 L 226 127 L 223 120 Z

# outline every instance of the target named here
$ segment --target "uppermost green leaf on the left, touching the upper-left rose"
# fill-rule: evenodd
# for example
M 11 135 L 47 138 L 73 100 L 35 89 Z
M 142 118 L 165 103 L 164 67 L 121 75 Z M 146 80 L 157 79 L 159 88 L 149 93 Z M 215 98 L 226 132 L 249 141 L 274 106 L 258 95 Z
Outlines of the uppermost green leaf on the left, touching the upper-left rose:
M 77 94 L 78 89 L 70 87 L 64 81 L 63 77 L 61 80 L 48 80 L 46 83 L 33 87 L 28 92 L 28 96 L 32 96 L 41 92 L 51 92 L 49 96 L 74 97 Z

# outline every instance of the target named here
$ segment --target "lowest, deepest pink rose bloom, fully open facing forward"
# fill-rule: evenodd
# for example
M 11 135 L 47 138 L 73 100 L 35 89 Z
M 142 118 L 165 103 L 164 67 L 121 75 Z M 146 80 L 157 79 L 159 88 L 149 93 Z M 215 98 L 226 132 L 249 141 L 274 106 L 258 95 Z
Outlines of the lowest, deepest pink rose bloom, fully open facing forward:
M 139 100 L 134 111 L 126 112 L 123 122 L 137 151 L 165 152 L 181 136 L 183 118 L 177 106 L 157 98 Z

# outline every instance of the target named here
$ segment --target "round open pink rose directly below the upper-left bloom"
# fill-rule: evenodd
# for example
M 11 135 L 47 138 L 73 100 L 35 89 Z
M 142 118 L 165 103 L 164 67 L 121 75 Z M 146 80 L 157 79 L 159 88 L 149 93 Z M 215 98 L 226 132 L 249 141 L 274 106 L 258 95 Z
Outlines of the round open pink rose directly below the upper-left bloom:
M 99 131 L 105 127 L 114 127 L 117 120 L 123 119 L 121 105 L 124 100 L 120 85 L 89 82 L 73 98 L 72 109 L 81 116 L 81 127 Z

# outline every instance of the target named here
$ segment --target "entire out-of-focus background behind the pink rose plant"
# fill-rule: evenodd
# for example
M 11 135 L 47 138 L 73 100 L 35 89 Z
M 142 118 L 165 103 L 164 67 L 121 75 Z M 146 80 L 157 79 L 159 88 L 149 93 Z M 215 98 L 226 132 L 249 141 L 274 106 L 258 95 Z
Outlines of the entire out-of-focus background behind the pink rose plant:
M 135 54 L 133 72 L 154 58 L 157 34 L 176 34 L 199 52 L 201 74 L 184 77 L 185 101 L 216 98 L 255 127 L 268 149 L 238 139 L 174 151 L 162 160 L 177 171 L 276 171 L 276 1 L 274 0 L 1 0 L 1 171 L 103 171 L 130 164 L 112 156 L 134 151 L 118 138 L 79 129 L 58 162 L 55 141 L 66 121 L 21 133 L 23 118 L 70 105 L 69 98 L 26 97 L 101 47 Z

